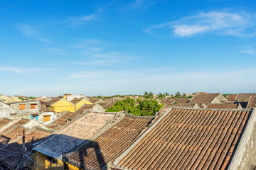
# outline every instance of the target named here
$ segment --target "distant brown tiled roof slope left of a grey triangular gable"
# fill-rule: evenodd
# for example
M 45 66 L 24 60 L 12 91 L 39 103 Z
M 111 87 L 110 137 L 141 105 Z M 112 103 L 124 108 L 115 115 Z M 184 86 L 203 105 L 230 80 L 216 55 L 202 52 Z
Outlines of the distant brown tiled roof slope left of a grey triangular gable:
M 197 103 L 197 104 L 201 104 L 201 103 L 205 103 L 208 104 L 210 103 L 210 101 L 213 101 L 213 98 L 217 97 L 219 94 L 196 94 L 195 96 L 193 96 L 193 98 L 191 98 L 191 101 L 189 101 L 188 103 Z

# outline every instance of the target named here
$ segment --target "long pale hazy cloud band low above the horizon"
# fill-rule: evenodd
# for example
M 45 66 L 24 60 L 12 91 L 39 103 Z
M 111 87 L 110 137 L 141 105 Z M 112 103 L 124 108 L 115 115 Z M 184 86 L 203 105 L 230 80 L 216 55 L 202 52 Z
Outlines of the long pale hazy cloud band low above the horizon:
M 87 88 L 95 93 L 99 89 L 105 89 L 117 94 L 140 94 L 144 91 L 252 91 L 256 84 L 255 77 L 256 69 L 176 72 L 174 68 L 162 68 L 123 71 L 88 70 L 67 74 L 63 80 L 73 79 L 80 84 L 86 84 Z M 225 82 L 225 86 L 220 82 Z M 247 84 L 246 88 L 243 84 Z

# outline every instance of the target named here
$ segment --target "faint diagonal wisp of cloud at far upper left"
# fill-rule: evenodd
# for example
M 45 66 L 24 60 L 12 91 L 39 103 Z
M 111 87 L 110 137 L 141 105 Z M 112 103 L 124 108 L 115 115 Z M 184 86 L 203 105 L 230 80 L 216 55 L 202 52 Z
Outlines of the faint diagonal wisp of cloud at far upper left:
M 40 40 L 43 42 L 50 42 L 50 40 L 44 38 L 43 35 L 40 33 L 40 31 L 33 26 L 20 25 L 18 26 L 18 30 L 21 31 L 21 33 L 23 33 L 23 35 L 26 36 L 27 38 Z

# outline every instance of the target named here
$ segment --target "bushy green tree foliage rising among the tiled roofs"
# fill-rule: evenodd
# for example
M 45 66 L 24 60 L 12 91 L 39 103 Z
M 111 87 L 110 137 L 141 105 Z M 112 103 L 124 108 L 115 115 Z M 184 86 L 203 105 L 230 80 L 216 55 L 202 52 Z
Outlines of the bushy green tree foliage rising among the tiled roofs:
M 127 111 L 133 115 L 154 115 L 156 112 L 164 105 L 159 104 L 155 100 L 139 100 L 138 106 L 135 106 L 135 101 L 133 98 L 126 98 L 124 100 L 119 100 L 114 103 L 114 106 L 107 108 L 107 112 L 118 112 Z

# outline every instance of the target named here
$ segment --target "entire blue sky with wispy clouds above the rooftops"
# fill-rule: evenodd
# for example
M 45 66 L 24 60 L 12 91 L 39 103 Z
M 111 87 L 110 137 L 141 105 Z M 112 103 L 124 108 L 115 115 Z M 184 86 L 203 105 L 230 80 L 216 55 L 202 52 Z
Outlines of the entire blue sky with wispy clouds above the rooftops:
M 0 94 L 256 91 L 256 1 L 0 1 Z

